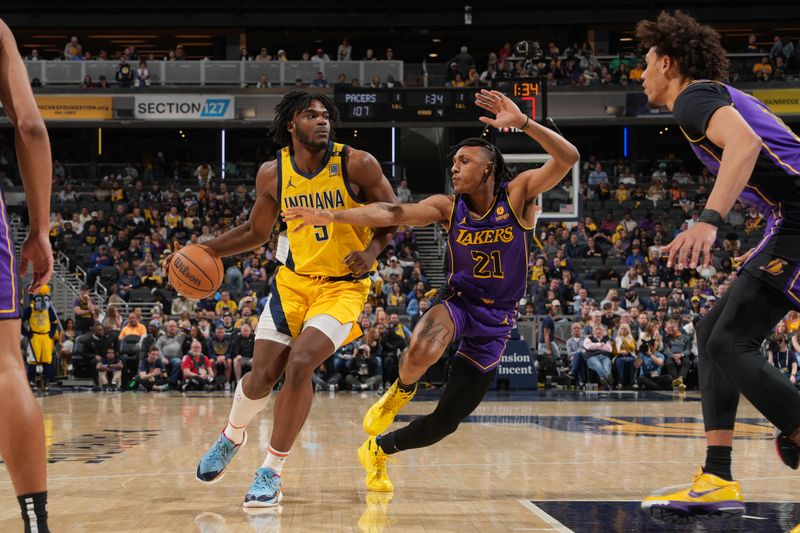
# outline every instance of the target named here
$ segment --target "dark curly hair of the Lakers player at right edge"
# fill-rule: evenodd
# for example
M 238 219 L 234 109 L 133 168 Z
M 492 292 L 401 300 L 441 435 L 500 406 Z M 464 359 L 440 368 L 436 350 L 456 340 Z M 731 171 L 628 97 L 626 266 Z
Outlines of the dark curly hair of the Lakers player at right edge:
M 675 59 L 687 78 L 721 80 L 727 74 L 728 57 L 719 33 L 686 13 L 662 11 L 656 21 L 639 21 L 636 37 L 645 50 L 655 46 L 659 56 Z

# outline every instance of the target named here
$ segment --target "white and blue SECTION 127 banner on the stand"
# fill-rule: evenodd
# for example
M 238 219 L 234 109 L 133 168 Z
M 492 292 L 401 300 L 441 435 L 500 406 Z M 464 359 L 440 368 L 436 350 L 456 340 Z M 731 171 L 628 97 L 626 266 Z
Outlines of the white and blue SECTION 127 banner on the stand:
M 142 120 L 227 120 L 234 118 L 233 96 L 137 95 L 134 117 Z

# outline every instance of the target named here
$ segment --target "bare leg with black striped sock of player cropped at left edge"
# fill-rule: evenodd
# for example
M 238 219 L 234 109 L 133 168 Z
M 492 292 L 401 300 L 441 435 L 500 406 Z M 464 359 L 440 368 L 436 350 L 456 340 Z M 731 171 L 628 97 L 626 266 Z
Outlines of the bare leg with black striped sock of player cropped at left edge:
M 46 532 L 47 462 L 42 413 L 33 397 L 20 353 L 20 321 L 0 321 L 0 455 L 14 492 Z M 35 509 L 34 509 L 35 507 Z M 28 514 L 30 516 L 30 513 Z M 30 528 L 26 523 L 26 530 Z

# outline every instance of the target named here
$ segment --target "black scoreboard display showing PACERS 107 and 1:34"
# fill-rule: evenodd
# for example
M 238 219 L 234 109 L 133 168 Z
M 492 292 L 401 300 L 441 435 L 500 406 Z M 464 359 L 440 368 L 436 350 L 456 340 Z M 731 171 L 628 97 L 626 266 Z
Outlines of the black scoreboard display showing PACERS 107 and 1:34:
M 533 80 L 502 80 L 494 88 L 509 96 L 537 121 L 545 115 L 544 84 Z M 475 105 L 475 88 L 372 89 L 334 91 L 346 122 L 477 122 L 485 112 Z

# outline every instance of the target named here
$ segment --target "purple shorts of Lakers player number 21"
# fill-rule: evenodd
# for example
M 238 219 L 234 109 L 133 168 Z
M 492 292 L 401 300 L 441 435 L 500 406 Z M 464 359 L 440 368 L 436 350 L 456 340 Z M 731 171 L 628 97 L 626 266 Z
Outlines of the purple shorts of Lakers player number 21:
M 489 307 L 466 295 L 452 295 L 442 300 L 455 325 L 453 339 L 461 339 L 457 357 L 491 372 L 506 347 L 514 327 L 515 309 Z

